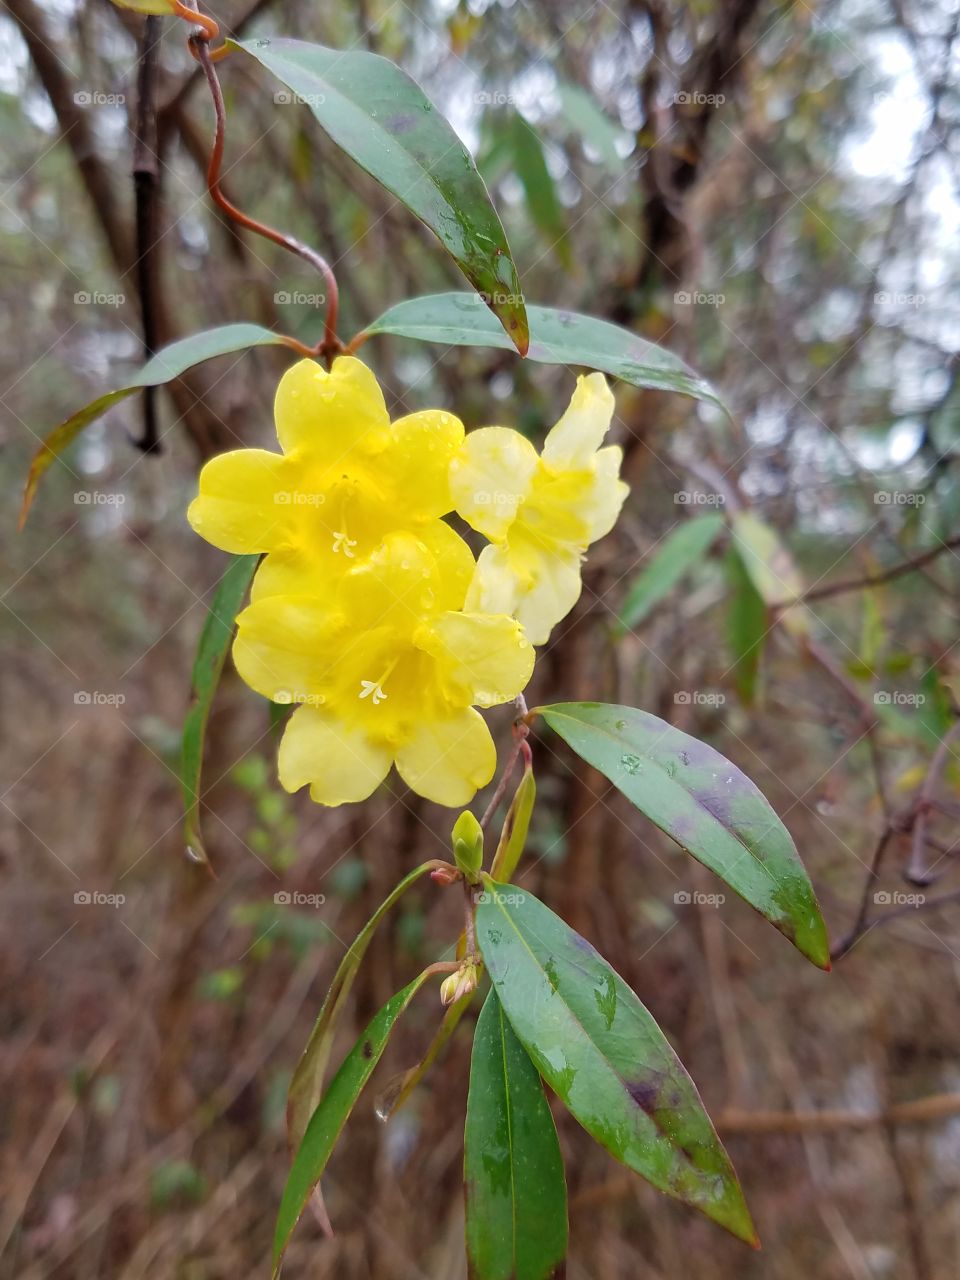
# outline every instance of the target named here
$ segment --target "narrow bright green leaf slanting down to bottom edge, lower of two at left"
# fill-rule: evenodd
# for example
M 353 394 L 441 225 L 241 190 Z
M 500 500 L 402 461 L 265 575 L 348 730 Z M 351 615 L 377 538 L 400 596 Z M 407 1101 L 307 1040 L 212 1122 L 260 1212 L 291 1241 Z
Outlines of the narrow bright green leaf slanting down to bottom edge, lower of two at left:
M 392 996 L 378 1014 L 374 1014 L 366 1030 L 344 1057 L 339 1070 L 330 1080 L 326 1092 L 310 1117 L 303 1140 L 297 1149 L 297 1155 L 293 1157 L 287 1185 L 283 1189 L 280 1210 L 276 1215 L 274 1276 L 280 1270 L 280 1261 L 283 1260 L 283 1253 L 289 1243 L 293 1228 L 300 1221 L 311 1192 L 320 1181 L 323 1171 L 326 1167 L 326 1161 L 330 1158 L 330 1152 L 340 1135 L 340 1130 L 356 1106 L 357 1098 L 370 1079 L 374 1068 L 380 1061 L 390 1033 L 397 1025 L 397 1020 L 429 977 L 430 970 L 425 969 L 403 991 L 398 991 L 396 996 Z

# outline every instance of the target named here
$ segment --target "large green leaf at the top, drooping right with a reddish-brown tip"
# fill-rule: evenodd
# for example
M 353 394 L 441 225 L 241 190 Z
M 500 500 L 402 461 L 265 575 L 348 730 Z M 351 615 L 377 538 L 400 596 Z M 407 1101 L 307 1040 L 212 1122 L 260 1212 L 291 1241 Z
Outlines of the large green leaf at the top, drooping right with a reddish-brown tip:
M 236 47 L 301 97 L 337 146 L 434 232 L 522 355 L 527 321 L 506 232 L 470 152 L 420 86 L 361 49 L 302 40 Z

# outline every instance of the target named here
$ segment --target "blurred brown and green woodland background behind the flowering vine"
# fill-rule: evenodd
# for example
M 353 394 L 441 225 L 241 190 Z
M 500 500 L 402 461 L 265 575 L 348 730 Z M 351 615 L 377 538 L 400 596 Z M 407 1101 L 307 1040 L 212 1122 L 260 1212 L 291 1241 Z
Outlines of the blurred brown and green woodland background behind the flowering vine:
M 698 905 L 717 888 L 707 873 L 538 736 L 521 882 L 602 946 L 672 1037 L 764 1242 L 749 1254 L 559 1116 L 571 1280 L 952 1280 L 960 563 L 936 549 L 957 530 L 960 12 L 224 0 L 215 17 L 398 60 L 477 156 L 527 301 L 664 343 L 735 412 L 731 424 L 617 388 L 632 495 L 530 699 L 632 703 L 709 740 L 769 796 L 835 938 L 855 945 L 824 977 L 730 896 Z M 160 338 L 246 319 L 315 340 L 319 282 L 211 210 L 210 108 L 172 28 Z M 5 0 L 0 14 L 10 532 L 38 436 L 140 358 L 140 31 L 108 0 Z M 394 301 L 462 287 L 306 108 L 239 56 L 221 78 L 227 191 L 334 261 L 343 334 Z M 378 338 L 364 357 L 398 412 L 442 404 L 535 439 L 572 385 L 507 352 Z M 161 392 L 159 456 L 136 448 L 137 401 L 116 407 L 5 539 L 3 1276 L 266 1274 L 284 1091 L 325 982 L 396 879 L 447 847 L 451 815 L 396 778 L 357 809 L 279 792 L 268 708 L 228 675 L 204 814 L 218 878 L 184 858 L 173 768 L 224 558 L 183 512 L 200 460 L 270 445 L 284 364 L 276 351 L 224 357 Z M 737 512 L 762 524 L 741 516 L 731 538 Z M 692 518 L 699 532 L 677 543 Z M 806 607 L 772 609 L 792 577 L 813 593 Z M 506 741 L 507 714 L 494 723 Z M 114 901 L 83 900 L 97 893 Z M 449 942 L 456 918 L 433 887 L 404 900 L 369 952 L 346 1034 Z M 438 1019 L 421 997 L 374 1093 Z M 325 1181 L 338 1234 L 305 1224 L 285 1275 L 463 1275 L 467 1064 L 462 1037 L 388 1126 L 372 1094 L 358 1108 Z

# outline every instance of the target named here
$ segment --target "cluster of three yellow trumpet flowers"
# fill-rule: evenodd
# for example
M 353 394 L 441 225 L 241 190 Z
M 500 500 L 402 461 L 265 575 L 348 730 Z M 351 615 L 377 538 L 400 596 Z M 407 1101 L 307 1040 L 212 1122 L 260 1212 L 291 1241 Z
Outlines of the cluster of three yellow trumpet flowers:
M 581 378 L 538 456 L 518 433 L 465 436 L 453 415 L 390 422 L 360 360 L 312 360 L 276 392 L 283 449 L 207 462 L 188 517 L 207 541 L 264 553 L 233 655 L 243 680 L 297 704 L 279 753 L 288 791 L 369 796 L 392 764 L 462 806 L 494 774 L 477 707 L 526 686 L 534 644 L 573 607 L 586 547 L 622 506 L 620 449 L 599 448 L 613 397 Z M 443 518 L 490 545 L 479 559 Z

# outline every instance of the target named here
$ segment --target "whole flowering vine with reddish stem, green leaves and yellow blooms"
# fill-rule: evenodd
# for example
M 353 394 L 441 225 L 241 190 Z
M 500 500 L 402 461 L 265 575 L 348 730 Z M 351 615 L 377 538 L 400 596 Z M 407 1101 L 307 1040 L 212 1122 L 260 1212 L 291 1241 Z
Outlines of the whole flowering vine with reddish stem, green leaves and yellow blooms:
M 806 959 L 829 968 L 794 842 L 735 765 L 636 708 L 527 708 L 524 698 L 536 650 L 577 602 L 589 548 L 627 499 L 621 451 L 604 443 L 616 408 L 608 378 L 722 402 L 664 348 L 586 315 L 526 303 L 472 159 L 393 63 L 296 40 L 220 42 L 216 23 L 180 0 L 123 3 L 189 24 L 187 44 L 215 119 L 210 197 L 238 225 L 320 274 L 324 332 L 310 346 L 237 319 L 157 352 L 127 384 L 51 433 L 32 465 L 23 515 L 46 468 L 113 404 L 228 352 L 265 344 L 296 352 L 276 388 L 279 452 L 212 458 L 188 512 L 195 531 L 233 559 L 201 636 L 183 731 L 187 847 L 206 859 L 204 735 L 228 650 L 243 681 L 287 714 L 278 753 L 285 790 L 306 786 L 320 805 L 361 804 L 396 768 L 419 795 L 460 810 L 452 820 L 438 810 L 449 859 L 412 868 L 396 886 L 346 952 L 319 1010 L 289 1089 L 292 1166 L 278 1208 L 274 1275 L 311 1201 L 329 1225 L 320 1180 L 330 1153 L 394 1025 L 425 986 L 443 1009 L 434 1039 L 380 1110 L 389 1119 L 402 1106 L 483 996 L 463 1167 L 475 1280 L 562 1274 L 566 1185 L 544 1085 L 613 1158 L 755 1244 L 730 1160 L 663 1032 L 594 947 L 516 882 L 536 800 L 536 739 L 552 732 Z M 221 191 L 227 111 L 218 67 L 227 58 L 255 59 L 302 99 L 330 138 L 434 232 L 474 292 L 411 298 L 343 340 L 326 259 L 248 216 Z M 442 408 L 390 421 L 375 346 L 370 362 L 366 351 L 357 356 L 378 334 L 500 347 L 588 372 L 540 447 L 511 426 L 467 430 Z M 792 618 L 801 628 L 799 605 Z M 513 707 L 513 724 L 498 760 L 483 712 L 502 704 Z M 468 806 L 494 782 L 475 814 Z M 393 996 L 328 1079 L 370 940 L 428 876 L 438 890 L 462 895 L 452 957 Z

